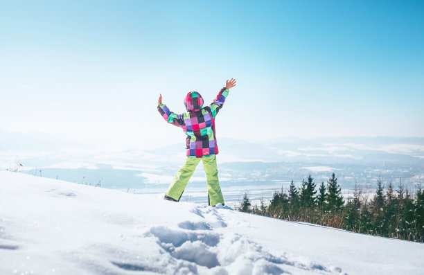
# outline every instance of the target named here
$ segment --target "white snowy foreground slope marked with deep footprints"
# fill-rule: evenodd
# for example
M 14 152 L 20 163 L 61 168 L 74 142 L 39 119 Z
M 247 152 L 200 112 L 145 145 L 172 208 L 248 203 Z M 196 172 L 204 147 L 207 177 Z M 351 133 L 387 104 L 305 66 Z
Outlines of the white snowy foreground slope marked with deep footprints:
M 421 243 L 0 171 L 0 274 L 423 274 L 423 259 Z

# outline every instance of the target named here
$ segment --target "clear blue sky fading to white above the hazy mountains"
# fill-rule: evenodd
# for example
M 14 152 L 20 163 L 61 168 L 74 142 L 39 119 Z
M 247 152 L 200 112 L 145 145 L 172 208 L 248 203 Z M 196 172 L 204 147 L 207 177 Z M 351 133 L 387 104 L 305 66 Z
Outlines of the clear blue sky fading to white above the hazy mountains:
M 424 1 L 1 1 L 0 129 L 150 148 L 217 136 L 424 136 Z

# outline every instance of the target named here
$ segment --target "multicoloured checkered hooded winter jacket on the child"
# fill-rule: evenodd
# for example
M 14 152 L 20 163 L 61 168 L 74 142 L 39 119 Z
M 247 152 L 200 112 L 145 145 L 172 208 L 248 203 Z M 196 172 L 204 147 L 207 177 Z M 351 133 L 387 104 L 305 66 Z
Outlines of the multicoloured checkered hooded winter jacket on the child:
M 229 90 L 222 88 L 213 103 L 203 106 L 203 98 L 197 91 L 190 91 L 184 99 L 187 112 L 175 114 L 166 105 L 161 104 L 157 110 L 165 121 L 182 127 L 187 135 L 186 148 L 188 157 L 206 157 L 218 154 L 215 136 L 215 116 L 222 108 Z

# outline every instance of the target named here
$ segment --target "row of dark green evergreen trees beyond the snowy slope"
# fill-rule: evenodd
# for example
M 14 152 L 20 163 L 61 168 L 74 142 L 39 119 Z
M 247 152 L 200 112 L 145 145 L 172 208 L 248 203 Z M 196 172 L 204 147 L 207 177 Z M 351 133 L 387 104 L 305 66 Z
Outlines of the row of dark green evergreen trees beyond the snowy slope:
M 369 197 L 358 186 L 345 201 L 335 174 L 318 188 L 313 178 L 293 181 L 288 190 L 274 193 L 270 204 L 263 199 L 252 206 L 245 193 L 239 211 L 266 215 L 283 220 L 310 222 L 357 233 L 424 242 L 424 190 L 418 186 L 411 193 L 403 184 L 396 190 L 377 181 L 376 193 Z

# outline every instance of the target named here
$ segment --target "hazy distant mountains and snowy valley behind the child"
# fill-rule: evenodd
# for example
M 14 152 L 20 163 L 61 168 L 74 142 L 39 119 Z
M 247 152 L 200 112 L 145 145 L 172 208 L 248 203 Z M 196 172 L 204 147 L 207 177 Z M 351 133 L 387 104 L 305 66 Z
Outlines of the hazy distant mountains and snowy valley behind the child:
M 0 132 L 0 168 L 19 161 L 33 175 L 98 184 L 109 188 L 166 186 L 185 158 L 184 142 L 144 150 L 108 150 L 66 143 L 40 134 Z M 66 147 L 66 150 L 63 148 Z M 424 181 L 424 138 L 328 137 L 272 141 L 219 139 L 218 166 L 224 186 L 301 182 L 309 173 L 326 181 L 336 172 L 343 188 L 371 184 L 378 177 L 397 184 Z M 201 165 L 200 165 L 201 166 Z M 197 169 L 193 184 L 203 186 Z

